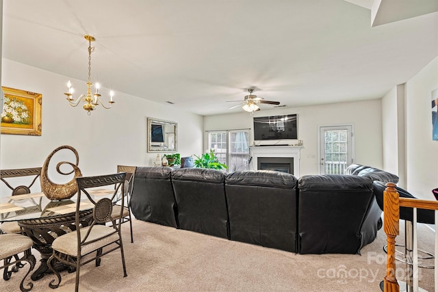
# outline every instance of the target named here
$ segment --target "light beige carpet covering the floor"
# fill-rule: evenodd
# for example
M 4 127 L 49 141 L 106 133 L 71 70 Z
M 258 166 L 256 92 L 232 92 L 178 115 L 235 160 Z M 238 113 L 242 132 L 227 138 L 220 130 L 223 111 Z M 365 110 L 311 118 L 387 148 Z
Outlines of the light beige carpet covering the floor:
M 294 254 L 258 245 L 229 241 L 186 230 L 133 221 L 123 225 L 127 278 L 123 278 L 120 252 L 102 258 L 100 267 L 81 269 L 80 291 L 381 291 L 386 269 L 385 233 L 359 254 Z M 402 230 L 402 228 L 400 228 Z M 433 252 L 433 232 L 420 227 L 423 249 Z M 403 241 L 402 236 L 398 242 Z M 39 259 L 39 254 L 34 250 Z M 37 263 L 38 264 L 38 263 Z M 405 276 L 398 263 L 397 276 Z M 24 268 L 0 291 L 19 291 Z M 433 269 L 420 270 L 420 287 L 433 291 Z M 51 291 L 47 275 L 34 282 L 32 291 Z M 29 279 L 27 280 L 29 282 Z M 62 272 L 55 291 L 74 291 L 75 273 Z

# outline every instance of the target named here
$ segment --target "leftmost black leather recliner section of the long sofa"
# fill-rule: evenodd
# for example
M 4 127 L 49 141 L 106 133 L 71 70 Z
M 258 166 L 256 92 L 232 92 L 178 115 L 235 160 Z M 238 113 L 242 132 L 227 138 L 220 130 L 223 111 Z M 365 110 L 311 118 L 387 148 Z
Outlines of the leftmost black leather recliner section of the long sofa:
M 133 178 L 131 211 L 143 221 L 179 228 L 172 168 L 138 167 Z

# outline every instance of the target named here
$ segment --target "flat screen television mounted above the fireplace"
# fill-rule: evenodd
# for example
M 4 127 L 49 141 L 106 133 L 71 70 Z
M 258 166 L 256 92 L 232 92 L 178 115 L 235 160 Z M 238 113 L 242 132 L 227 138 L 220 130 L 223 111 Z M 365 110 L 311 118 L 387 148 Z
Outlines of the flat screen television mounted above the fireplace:
M 254 140 L 298 139 L 296 114 L 255 117 Z

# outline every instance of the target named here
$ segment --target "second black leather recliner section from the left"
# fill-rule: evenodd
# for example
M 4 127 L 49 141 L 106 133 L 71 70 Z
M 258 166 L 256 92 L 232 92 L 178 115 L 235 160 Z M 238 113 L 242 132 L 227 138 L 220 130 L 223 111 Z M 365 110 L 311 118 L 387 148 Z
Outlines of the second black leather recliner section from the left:
M 229 239 L 225 173 L 204 168 L 172 172 L 179 227 Z

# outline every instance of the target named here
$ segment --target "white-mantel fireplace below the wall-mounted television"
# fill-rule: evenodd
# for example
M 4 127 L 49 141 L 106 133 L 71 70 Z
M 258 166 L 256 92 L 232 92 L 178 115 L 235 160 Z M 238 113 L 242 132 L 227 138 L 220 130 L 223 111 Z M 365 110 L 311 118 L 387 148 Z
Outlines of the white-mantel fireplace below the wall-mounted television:
M 250 170 L 269 169 L 300 176 L 300 150 L 303 146 L 251 146 Z

